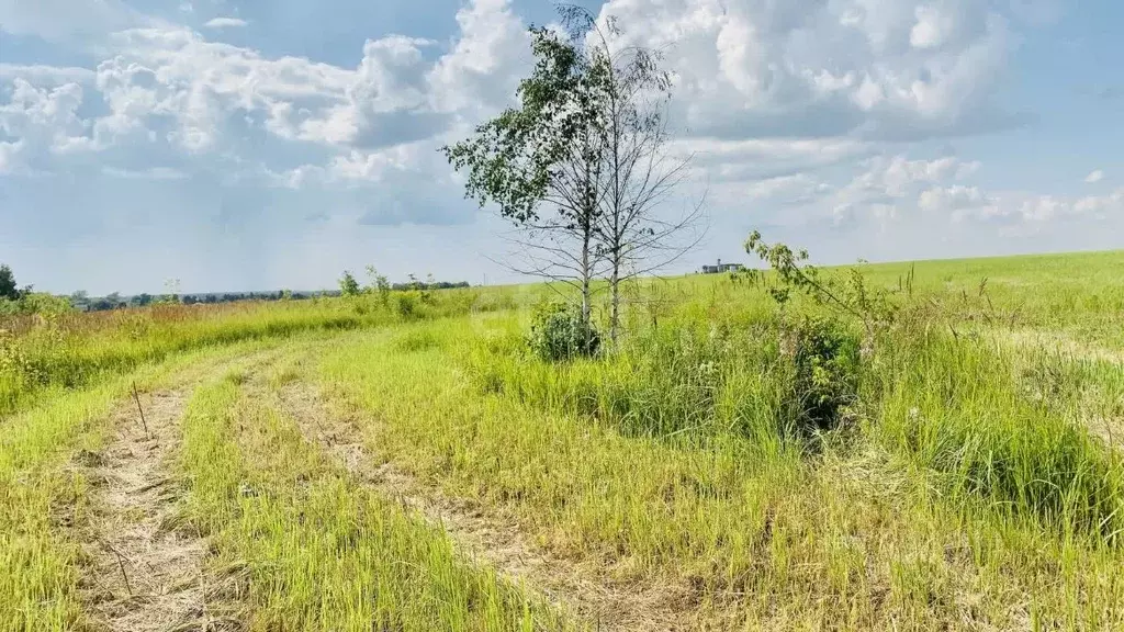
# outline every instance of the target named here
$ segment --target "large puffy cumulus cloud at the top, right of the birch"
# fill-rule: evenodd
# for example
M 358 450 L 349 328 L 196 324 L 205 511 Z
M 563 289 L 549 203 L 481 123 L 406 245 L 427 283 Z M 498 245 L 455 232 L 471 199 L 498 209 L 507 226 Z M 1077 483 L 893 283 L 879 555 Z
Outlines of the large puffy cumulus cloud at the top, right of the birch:
M 699 135 L 922 138 L 1010 124 L 1007 19 L 975 0 L 610 0 L 623 44 L 664 53 Z

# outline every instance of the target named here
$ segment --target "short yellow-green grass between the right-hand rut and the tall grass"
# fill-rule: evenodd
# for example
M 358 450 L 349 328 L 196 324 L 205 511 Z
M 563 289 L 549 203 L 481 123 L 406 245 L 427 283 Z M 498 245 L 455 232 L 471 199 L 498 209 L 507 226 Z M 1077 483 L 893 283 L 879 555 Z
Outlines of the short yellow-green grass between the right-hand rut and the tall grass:
M 1124 556 L 1099 535 L 1044 525 L 1035 497 L 1018 496 L 1033 480 L 957 496 L 944 472 L 886 440 L 890 428 L 841 436 L 813 455 L 725 424 L 701 436 L 622 433 L 568 405 L 481 390 L 448 362 L 471 332 L 419 327 L 339 345 L 323 364 L 326 386 L 369 415 L 372 450 L 450 495 L 516 512 L 562 556 L 605 560 L 622 579 L 670 577 L 763 629 L 1124 623 Z M 429 336 L 444 349 L 398 342 Z M 518 367 L 506 379 L 540 377 Z M 1075 441 L 1088 452 L 1073 458 L 1113 467 Z M 1035 461 L 1053 448 L 1016 454 L 1061 480 L 1057 463 Z M 1052 500 L 1055 522 L 1088 509 L 1067 498 Z M 1100 498 L 1118 503 L 1118 488 Z

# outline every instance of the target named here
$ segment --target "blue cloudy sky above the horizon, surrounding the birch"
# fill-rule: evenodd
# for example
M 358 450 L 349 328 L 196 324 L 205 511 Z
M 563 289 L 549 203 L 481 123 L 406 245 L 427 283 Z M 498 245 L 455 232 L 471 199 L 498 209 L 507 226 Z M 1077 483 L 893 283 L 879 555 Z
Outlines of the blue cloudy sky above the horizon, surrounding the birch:
M 1124 3 L 588 0 L 674 78 L 676 205 L 845 263 L 1124 247 Z M 0 0 L 0 262 L 60 294 L 514 280 L 438 148 L 546 0 Z

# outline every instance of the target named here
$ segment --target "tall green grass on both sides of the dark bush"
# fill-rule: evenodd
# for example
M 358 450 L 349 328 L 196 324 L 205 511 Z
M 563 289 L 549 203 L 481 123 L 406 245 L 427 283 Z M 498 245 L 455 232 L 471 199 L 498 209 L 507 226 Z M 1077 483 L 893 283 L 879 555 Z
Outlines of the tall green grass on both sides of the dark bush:
M 945 313 L 907 318 L 919 320 L 882 335 L 856 365 L 861 389 L 841 414 L 861 423 L 845 424 L 847 441 L 910 460 L 930 484 L 968 502 L 1108 542 L 1124 534 L 1124 460 L 1089 427 L 1090 404 L 1102 418 L 1124 409 L 1121 364 L 1017 349 L 990 328 L 959 334 L 950 327 L 966 324 Z M 830 427 L 801 418 L 808 385 L 769 312 L 715 314 L 686 303 L 660 327 L 635 327 L 606 358 L 556 364 L 526 353 L 517 319 L 491 325 L 461 351 L 483 394 L 627 435 L 697 443 L 732 433 L 769 452 L 817 449 L 807 431 Z

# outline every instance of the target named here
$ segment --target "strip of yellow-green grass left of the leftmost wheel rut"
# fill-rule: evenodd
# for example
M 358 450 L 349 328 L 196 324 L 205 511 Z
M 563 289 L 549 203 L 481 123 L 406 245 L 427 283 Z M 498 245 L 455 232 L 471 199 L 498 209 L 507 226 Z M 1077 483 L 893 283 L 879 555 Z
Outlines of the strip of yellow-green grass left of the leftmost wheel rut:
M 0 630 L 73 630 L 79 604 L 80 547 L 89 520 L 89 481 L 73 467 L 96 453 L 106 418 L 135 382 L 142 391 L 198 379 L 224 358 L 261 344 L 183 354 L 98 386 L 54 397 L 2 422 L 0 432 Z

